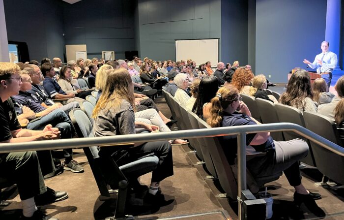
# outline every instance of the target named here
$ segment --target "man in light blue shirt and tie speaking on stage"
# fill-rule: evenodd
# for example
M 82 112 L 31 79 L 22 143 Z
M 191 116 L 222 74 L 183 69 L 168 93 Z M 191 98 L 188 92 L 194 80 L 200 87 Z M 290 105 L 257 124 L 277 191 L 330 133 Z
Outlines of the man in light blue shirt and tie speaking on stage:
M 308 64 L 312 69 L 316 68 L 316 72 L 321 74 L 321 78 L 326 81 L 328 88 L 330 88 L 331 85 L 332 71 L 336 68 L 338 63 L 337 55 L 328 50 L 329 46 L 330 43 L 328 41 L 322 41 L 320 46 L 321 53 L 315 56 L 313 63 L 306 59 L 303 60 L 303 63 Z

